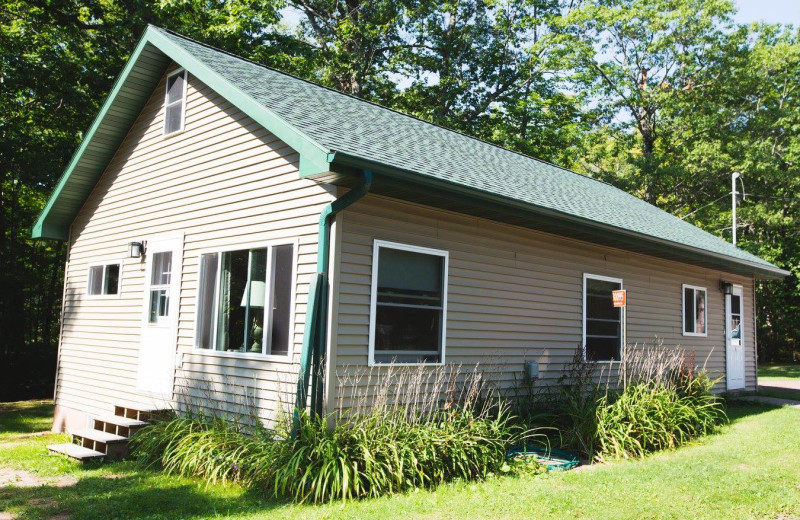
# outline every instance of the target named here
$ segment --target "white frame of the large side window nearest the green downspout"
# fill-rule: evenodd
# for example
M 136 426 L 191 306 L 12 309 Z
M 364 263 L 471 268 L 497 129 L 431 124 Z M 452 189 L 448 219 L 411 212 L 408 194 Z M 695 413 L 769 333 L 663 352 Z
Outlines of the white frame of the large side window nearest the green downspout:
M 372 282 L 370 286 L 370 302 L 369 302 L 369 366 L 381 366 L 386 363 L 375 362 L 375 316 L 377 312 L 378 303 L 378 253 L 380 248 L 385 247 L 388 249 L 399 249 L 401 251 L 411 251 L 413 253 L 422 253 L 431 256 L 439 256 L 444 259 L 443 277 L 442 277 L 442 323 L 440 331 L 440 352 L 438 363 L 393 363 L 396 366 L 441 366 L 445 364 L 445 352 L 447 342 L 447 286 L 448 286 L 448 272 L 450 264 L 450 253 L 441 249 L 432 249 L 429 247 L 414 246 L 410 244 L 401 244 L 398 242 L 389 242 L 386 240 L 375 239 L 372 244 Z

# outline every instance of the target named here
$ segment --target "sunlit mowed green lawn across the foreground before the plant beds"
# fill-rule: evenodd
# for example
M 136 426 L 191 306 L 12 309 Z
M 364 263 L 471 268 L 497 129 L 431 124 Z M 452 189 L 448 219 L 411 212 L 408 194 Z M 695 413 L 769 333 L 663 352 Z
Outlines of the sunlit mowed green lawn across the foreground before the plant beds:
M 0 511 L 74 520 L 800 517 L 796 408 L 734 404 L 720 435 L 644 461 L 325 506 L 266 500 L 132 462 L 83 467 L 50 456 L 45 446 L 63 437 L 32 434 L 46 429 L 51 412 L 44 402 L 0 405 Z

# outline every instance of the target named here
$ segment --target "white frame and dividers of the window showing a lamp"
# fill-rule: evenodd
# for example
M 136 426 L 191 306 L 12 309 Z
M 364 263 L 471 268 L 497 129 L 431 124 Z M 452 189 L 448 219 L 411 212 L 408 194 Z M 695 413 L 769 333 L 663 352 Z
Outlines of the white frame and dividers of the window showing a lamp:
M 250 251 L 252 249 L 267 249 L 267 274 L 269 275 L 272 269 L 272 259 L 274 254 L 274 247 L 276 246 L 292 246 L 292 280 L 291 280 L 291 294 L 289 296 L 289 338 L 287 345 L 287 352 L 286 354 L 265 354 L 265 353 L 256 353 L 256 352 L 228 352 L 224 350 L 216 350 L 216 343 L 217 343 L 217 325 L 219 323 L 219 290 L 221 286 L 221 276 L 222 276 L 222 253 L 230 253 L 231 251 Z M 286 240 L 264 240 L 264 241 L 257 241 L 257 242 L 247 242 L 245 244 L 239 245 L 228 245 L 220 248 L 209 248 L 200 250 L 197 253 L 197 285 L 195 287 L 195 299 L 199 297 L 199 290 L 200 290 L 200 269 L 201 269 L 201 260 L 203 255 L 218 255 L 217 261 L 217 280 L 214 288 L 214 317 L 212 322 L 212 331 L 211 337 L 212 341 L 214 342 L 214 348 L 200 348 L 197 346 L 197 327 L 199 325 L 199 315 L 200 315 L 200 306 L 195 305 L 194 310 L 194 327 L 192 328 L 192 348 L 189 352 L 192 354 L 202 354 L 204 356 L 215 356 L 221 358 L 231 358 L 231 359 L 251 359 L 251 360 L 259 360 L 259 361 L 277 361 L 281 363 L 291 363 L 292 356 L 294 354 L 295 348 L 295 305 L 297 301 L 297 264 L 300 258 L 299 252 L 299 240 L 297 238 L 291 238 Z M 269 291 L 268 295 L 272 298 L 272 288 L 274 285 L 274 278 L 269 280 Z M 266 318 L 266 309 L 264 312 Z M 265 323 L 264 326 L 264 336 L 266 337 L 268 331 L 272 330 L 272 317 L 269 318 L 269 326 Z M 264 343 L 262 343 L 264 344 Z M 270 345 L 271 347 L 271 345 Z

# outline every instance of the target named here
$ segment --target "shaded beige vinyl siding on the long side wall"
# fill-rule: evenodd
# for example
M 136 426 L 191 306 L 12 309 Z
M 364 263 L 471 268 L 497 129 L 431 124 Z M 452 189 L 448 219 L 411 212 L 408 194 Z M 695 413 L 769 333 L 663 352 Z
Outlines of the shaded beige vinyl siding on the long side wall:
M 342 243 L 334 379 L 368 362 L 372 251 L 380 239 L 449 252 L 448 365 L 480 363 L 508 387 L 532 360 L 540 363 L 543 380 L 557 379 L 582 342 L 587 273 L 622 279 L 629 344 L 680 345 L 695 352 L 698 364 L 708 359 L 711 373 L 722 376 L 724 279 L 744 287 L 746 383 L 754 388 L 751 279 L 374 195 L 346 210 L 337 225 Z M 682 334 L 683 284 L 707 289 L 707 337 Z M 601 366 L 606 373 L 614 368 Z M 723 380 L 718 389 L 724 387 Z

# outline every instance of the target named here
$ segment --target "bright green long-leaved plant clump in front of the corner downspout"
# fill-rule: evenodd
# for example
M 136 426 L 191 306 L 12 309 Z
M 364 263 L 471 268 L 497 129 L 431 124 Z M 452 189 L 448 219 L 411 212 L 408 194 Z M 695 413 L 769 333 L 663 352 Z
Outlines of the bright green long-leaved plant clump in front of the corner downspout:
M 486 478 L 502 471 L 508 447 L 521 437 L 505 405 L 494 411 L 459 408 L 413 421 L 398 410 L 376 410 L 333 428 L 304 414 L 276 470 L 276 494 L 321 502 Z

